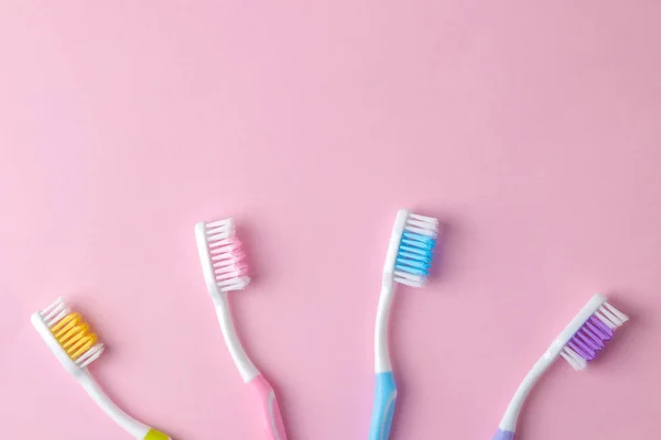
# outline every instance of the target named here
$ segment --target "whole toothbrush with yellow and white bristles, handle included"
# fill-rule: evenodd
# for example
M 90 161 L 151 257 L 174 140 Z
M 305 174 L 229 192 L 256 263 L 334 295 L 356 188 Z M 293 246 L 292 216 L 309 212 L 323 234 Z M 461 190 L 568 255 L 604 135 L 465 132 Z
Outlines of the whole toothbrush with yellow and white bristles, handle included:
M 87 369 L 101 355 L 104 344 L 98 342 L 80 314 L 72 312 L 64 299 L 58 298 L 45 309 L 34 312 L 30 320 L 55 358 L 120 427 L 137 439 L 172 440 L 122 411 L 104 393 Z

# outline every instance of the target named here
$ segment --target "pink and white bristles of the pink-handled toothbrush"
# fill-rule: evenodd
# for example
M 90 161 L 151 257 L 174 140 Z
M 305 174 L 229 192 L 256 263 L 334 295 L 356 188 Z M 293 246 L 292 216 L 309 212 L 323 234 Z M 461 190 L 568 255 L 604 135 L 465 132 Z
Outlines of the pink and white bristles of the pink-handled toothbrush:
M 205 223 L 206 243 L 214 277 L 221 292 L 239 290 L 250 283 L 246 254 L 232 219 Z

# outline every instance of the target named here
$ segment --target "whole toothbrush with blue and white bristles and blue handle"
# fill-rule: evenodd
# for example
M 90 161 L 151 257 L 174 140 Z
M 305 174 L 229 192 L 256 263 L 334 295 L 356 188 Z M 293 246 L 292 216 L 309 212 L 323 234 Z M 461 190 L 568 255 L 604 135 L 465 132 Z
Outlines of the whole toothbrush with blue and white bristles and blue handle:
M 438 220 L 400 209 L 394 220 L 383 265 L 383 280 L 375 329 L 376 392 L 369 440 L 388 440 L 397 400 L 397 386 L 388 352 L 388 317 L 395 283 L 424 286 L 438 235 Z

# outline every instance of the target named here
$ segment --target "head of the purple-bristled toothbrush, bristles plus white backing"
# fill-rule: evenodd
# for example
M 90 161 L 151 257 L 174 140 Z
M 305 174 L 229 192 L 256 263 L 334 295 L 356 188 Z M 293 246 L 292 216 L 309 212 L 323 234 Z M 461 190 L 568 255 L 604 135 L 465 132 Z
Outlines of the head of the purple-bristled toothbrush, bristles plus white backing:
M 560 354 L 574 370 L 585 370 L 613 339 L 615 330 L 628 320 L 605 296 L 596 295 L 563 332 L 567 341 Z

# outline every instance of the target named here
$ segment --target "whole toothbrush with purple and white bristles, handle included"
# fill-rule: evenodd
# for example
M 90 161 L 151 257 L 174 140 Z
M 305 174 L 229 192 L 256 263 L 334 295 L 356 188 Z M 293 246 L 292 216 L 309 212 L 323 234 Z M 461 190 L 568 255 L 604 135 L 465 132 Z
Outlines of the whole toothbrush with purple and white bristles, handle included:
M 604 295 L 595 295 L 523 378 L 502 416 L 494 440 L 513 440 L 517 419 L 525 397 L 557 358 L 562 356 L 576 371 L 587 369 L 588 362 L 613 339 L 614 331 L 628 319 L 625 314 L 606 302 Z

